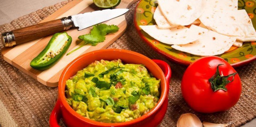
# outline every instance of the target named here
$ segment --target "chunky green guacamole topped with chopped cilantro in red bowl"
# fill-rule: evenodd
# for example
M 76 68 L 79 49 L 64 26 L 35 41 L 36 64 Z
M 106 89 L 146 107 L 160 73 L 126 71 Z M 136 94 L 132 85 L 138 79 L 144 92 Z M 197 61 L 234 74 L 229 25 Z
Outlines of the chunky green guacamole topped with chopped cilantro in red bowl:
M 160 80 L 143 65 L 101 60 L 68 79 L 65 93 L 68 104 L 88 119 L 126 122 L 155 107 Z

